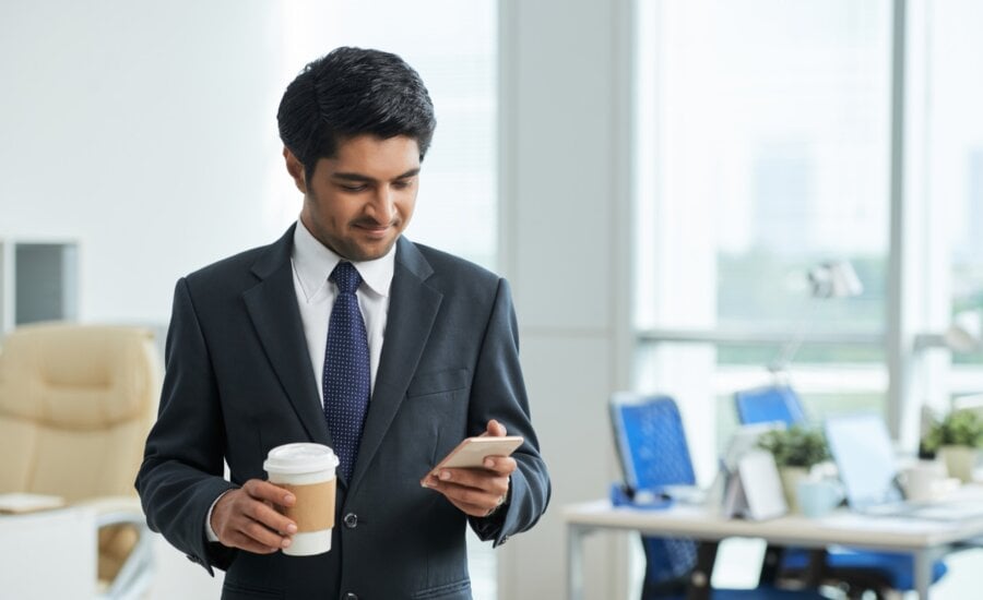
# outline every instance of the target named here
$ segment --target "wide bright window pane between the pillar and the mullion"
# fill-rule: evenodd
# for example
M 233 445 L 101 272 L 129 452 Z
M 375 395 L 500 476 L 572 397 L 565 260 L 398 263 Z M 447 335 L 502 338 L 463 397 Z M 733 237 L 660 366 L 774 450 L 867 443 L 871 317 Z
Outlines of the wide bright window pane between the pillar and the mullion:
M 801 336 L 787 372 L 814 412 L 846 396 L 883 409 L 889 3 L 638 10 L 638 385 L 725 430 L 731 394 Z M 810 297 L 807 272 L 830 260 L 853 264 L 863 295 Z

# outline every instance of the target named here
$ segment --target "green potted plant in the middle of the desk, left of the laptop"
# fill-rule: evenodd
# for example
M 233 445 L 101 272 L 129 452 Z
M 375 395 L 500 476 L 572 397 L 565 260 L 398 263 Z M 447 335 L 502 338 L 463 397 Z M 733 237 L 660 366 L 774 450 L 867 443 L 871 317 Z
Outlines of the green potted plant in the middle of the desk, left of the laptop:
M 770 452 L 782 479 L 782 491 L 789 509 L 797 513 L 796 488 L 808 477 L 815 465 L 829 459 L 826 436 L 818 429 L 792 425 L 768 431 L 758 439 L 758 446 Z

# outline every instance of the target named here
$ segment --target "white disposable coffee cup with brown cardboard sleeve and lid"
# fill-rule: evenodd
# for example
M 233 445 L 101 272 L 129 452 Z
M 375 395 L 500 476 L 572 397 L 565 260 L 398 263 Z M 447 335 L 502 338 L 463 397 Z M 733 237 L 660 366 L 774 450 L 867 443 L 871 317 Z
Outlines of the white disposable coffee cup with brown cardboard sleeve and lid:
M 263 469 L 270 483 L 289 490 L 297 499 L 291 507 L 276 506 L 297 524 L 297 532 L 284 554 L 309 556 L 331 550 L 336 467 L 334 451 L 322 444 L 284 444 L 267 455 Z

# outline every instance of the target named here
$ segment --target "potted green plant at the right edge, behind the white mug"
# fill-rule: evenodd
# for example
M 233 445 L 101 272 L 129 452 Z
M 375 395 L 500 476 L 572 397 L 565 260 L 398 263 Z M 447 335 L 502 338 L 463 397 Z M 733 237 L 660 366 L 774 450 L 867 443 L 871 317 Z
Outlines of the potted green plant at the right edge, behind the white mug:
M 950 477 L 963 482 L 973 479 L 980 447 L 983 447 L 983 420 L 969 410 L 952 410 L 941 419 L 934 419 L 922 439 L 922 452 L 935 455 L 945 463 Z

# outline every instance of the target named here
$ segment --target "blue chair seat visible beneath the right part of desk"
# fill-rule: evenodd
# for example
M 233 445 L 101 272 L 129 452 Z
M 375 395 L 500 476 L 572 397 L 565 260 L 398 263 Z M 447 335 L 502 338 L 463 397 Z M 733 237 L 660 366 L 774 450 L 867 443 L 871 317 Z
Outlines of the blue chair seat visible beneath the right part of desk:
M 791 549 L 782 559 L 782 569 L 802 571 L 809 565 L 809 551 Z M 876 550 L 854 551 L 846 548 L 830 549 L 826 565 L 833 571 L 864 571 L 877 573 L 893 589 L 907 591 L 914 589 L 914 557 L 903 552 L 883 552 Z M 943 561 L 932 565 L 932 583 L 938 581 L 948 567 Z

